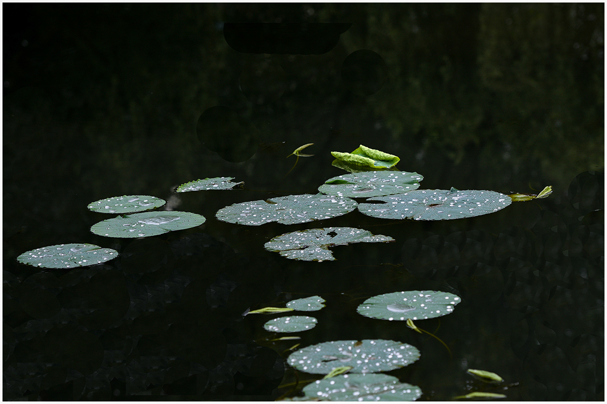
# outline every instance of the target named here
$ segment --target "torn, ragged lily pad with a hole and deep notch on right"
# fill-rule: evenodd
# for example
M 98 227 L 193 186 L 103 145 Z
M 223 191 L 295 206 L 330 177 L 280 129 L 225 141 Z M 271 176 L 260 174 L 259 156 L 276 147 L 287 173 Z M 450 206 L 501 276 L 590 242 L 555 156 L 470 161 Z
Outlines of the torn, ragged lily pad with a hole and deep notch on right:
M 394 241 L 385 235 L 373 235 L 371 232 L 354 227 L 326 227 L 291 232 L 274 237 L 265 243 L 268 251 L 279 252 L 291 260 L 334 261 L 328 247 L 343 246 L 350 243 L 386 243 Z

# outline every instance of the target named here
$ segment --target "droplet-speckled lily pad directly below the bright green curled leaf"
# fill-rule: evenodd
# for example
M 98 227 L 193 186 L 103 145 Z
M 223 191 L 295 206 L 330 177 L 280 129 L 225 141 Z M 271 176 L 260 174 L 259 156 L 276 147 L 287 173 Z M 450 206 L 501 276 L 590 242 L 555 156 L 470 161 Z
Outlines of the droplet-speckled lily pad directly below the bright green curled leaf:
M 333 177 L 318 187 L 318 190 L 338 197 L 382 197 L 418 189 L 419 181 L 423 179 L 416 172 L 368 171 Z

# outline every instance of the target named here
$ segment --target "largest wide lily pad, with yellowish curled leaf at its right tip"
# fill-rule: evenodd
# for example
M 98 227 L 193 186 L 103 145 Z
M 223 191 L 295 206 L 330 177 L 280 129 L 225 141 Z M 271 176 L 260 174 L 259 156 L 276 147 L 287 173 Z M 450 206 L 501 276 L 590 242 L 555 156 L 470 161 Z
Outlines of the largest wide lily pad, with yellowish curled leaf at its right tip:
M 512 203 L 507 195 L 488 190 L 418 189 L 405 194 L 369 198 L 363 214 L 384 219 L 450 220 L 497 212 Z

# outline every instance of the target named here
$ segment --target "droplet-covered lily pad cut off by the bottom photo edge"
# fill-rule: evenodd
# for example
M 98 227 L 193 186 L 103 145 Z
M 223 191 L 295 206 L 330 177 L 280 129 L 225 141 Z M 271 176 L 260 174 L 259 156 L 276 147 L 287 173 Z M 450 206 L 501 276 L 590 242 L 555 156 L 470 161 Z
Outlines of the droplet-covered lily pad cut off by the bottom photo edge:
M 387 374 L 344 374 L 304 387 L 307 397 L 327 401 L 415 401 L 421 389 Z

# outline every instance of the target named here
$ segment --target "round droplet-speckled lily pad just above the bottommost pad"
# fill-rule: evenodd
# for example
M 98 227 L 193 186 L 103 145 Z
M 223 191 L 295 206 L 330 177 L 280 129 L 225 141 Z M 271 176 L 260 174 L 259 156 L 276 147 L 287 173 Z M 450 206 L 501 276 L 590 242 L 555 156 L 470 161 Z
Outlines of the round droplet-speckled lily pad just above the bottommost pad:
M 299 371 L 327 374 L 352 366 L 350 373 L 387 372 L 419 359 L 415 346 L 390 340 L 331 341 L 307 346 L 289 355 L 287 363 Z

